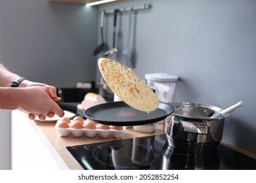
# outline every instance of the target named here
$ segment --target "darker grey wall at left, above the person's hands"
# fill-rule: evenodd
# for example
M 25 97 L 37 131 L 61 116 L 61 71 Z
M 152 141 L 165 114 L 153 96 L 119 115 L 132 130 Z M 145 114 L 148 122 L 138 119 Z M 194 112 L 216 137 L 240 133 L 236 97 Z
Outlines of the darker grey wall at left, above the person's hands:
M 0 1 L 0 61 L 54 86 L 95 80 L 97 12 L 47 0 Z

